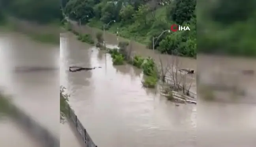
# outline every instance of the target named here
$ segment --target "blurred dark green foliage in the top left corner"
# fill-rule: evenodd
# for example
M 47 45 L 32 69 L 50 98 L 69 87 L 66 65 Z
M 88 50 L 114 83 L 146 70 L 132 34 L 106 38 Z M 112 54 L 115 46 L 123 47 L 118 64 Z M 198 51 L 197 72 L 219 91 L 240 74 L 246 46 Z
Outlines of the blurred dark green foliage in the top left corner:
M 63 18 L 58 0 L 4 0 L 1 11 L 22 20 L 49 24 Z

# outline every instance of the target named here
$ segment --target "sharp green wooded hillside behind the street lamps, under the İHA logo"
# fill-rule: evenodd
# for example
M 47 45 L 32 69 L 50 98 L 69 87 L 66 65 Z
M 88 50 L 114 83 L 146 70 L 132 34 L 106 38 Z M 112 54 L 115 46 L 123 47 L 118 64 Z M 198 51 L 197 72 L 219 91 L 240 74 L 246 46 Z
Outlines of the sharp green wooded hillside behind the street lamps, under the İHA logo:
M 162 4 L 161 4 L 162 3 Z M 162 6 L 165 4 L 165 6 Z M 117 32 L 152 48 L 152 38 L 158 37 L 171 24 L 189 26 L 190 31 L 163 33 L 155 42 L 162 53 L 177 50 L 181 56 L 196 56 L 196 0 L 68 0 L 64 13 L 84 24 Z M 155 39 L 154 41 L 156 41 Z

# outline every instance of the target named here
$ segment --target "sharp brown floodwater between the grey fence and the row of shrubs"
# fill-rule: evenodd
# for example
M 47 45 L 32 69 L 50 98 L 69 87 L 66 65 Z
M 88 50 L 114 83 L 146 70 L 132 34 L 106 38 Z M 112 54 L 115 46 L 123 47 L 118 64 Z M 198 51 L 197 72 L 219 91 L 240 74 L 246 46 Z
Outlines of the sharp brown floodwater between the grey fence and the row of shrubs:
M 72 73 L 72 65 L 102 68 Z M 196 105 L 175 106 L 141 87 L 142 76 L 131 65 L 113 66 L 109 54 L 77 41 L 72 33 L 61 34 L 60 83 L 96 145 L 195 147 Z

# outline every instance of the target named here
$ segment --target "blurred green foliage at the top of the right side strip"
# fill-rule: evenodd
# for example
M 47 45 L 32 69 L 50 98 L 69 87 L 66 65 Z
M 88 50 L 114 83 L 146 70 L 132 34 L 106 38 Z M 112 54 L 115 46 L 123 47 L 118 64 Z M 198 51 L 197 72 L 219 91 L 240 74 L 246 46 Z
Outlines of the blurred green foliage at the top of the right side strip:
M 198 52 L 256 56 L 256 1 L 198 3 Z

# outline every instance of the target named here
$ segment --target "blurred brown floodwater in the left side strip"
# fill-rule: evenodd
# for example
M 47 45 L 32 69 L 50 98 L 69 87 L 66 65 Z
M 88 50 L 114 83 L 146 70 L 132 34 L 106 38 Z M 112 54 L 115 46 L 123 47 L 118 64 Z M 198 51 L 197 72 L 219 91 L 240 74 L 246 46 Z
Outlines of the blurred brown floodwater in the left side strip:
M 0 32 L 1 91 L 11 95 L 16 106 L 56 138 L 60 136 L 58 62 L 58 45 L 36 43 L 21 33 Z M 14 72 L 15 67 L 51 67 L 55 70 L 17 73 Z M 61 127 L 65 129 L 62 130 L 62 144 L 72 141 L 70 146 L 79 147 L 68 127 Z M 26 129 L 11 119 L 0 118 L 0 130 L 0 146 L 40 147 Z

